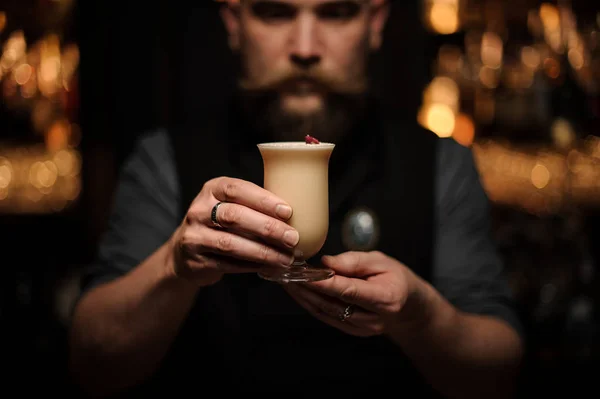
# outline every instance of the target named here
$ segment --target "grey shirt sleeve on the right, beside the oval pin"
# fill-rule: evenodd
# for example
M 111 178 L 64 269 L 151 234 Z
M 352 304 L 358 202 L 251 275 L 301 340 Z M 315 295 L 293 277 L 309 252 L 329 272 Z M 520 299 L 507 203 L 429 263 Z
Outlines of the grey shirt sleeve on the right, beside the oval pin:
M 452 139 L 439 148 L 433 283 L 458 309 L 501 318 L 521 334 L 473 154 Z

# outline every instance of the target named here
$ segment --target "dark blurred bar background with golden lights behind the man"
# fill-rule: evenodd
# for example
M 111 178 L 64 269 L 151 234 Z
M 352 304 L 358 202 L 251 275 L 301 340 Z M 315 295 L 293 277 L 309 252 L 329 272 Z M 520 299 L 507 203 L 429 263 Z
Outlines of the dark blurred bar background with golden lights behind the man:
M 217 9 L 0 0 L 0 359 L 21 393 L 70 389 L 78 273 L 136 137 L 231 88 Z M 396 1 L 385 34 L 375 90 L 474 150 L 526 328 L 520 396 L 598 397 L 600 4 Z

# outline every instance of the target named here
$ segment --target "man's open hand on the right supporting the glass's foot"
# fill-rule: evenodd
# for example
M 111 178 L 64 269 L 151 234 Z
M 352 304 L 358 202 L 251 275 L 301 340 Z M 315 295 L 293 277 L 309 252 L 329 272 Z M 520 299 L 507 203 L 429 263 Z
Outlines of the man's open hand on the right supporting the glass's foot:
M 426 320 L 427 312 L 417 311 L 421 280 L 397 260 L 380 252 L 347 252 L 325 256 L 323 263 L 336 272 L 331 279 L 284 285 L 319 320 L 356 336 Z

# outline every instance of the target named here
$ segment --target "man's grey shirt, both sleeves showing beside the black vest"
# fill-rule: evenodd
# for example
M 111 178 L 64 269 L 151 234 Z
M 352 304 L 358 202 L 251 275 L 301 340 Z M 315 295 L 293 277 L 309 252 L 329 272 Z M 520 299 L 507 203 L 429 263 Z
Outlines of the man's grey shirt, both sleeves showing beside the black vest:
M 521 332 L 473 155 L 452 139 L 440 139 L 439 144 L 432 284 L 459 309 L 499 317 Z M 173 157 L 164 130 L 137 142 L 121 170 L 108 229 L 96 262 L 85 270 L 82 294 L 136 267 L 179 225 Z

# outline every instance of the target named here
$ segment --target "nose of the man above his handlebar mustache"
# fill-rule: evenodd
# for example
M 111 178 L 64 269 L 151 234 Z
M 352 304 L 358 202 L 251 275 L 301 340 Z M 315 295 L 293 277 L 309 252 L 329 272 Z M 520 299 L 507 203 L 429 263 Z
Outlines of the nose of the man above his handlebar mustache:
M 308 69 L 321 61 L 316 22 L 312 15 L 299 15 L 292 32 L 290 60 L 303 69 Z

